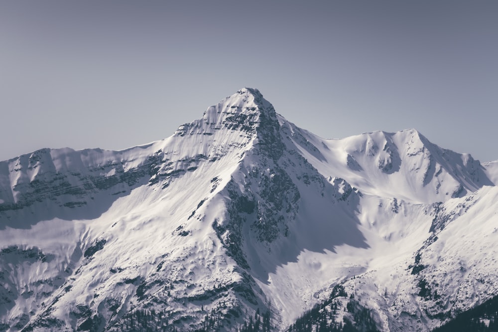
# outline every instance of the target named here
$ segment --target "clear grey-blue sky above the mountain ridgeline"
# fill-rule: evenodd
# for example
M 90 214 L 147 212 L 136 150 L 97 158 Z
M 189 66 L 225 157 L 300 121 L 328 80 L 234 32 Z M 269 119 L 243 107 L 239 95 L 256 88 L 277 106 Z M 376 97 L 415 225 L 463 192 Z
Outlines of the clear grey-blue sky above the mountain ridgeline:
M 0 160 L 159 140 L 243 87 L 497 160 L 498 1 L 0 0 Z

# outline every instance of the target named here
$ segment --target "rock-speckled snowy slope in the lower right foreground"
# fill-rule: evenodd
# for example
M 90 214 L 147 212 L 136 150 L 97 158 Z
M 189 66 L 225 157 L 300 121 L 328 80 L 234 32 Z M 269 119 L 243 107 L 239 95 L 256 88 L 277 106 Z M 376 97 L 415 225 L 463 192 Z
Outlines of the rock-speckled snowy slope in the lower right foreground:
M 496 296 L 497 194 L 485 187 L 428 208 L 425 241 L 400 241 L 398 252 L 374 259 L 370 271 L 343 283 L 372 310 L 380 331 L 430 331 Z

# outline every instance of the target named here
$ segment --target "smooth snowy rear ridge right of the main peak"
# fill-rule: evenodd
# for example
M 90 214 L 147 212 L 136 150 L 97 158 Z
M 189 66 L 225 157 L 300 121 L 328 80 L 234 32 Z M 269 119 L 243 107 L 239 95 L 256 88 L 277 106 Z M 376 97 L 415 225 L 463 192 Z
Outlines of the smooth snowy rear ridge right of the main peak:
M 415 129 L 322 139 L 280 121 L 322 175 L 338 175 L 364 193 L 431 203 L 494 185 L 471 155 L 442 149 Z

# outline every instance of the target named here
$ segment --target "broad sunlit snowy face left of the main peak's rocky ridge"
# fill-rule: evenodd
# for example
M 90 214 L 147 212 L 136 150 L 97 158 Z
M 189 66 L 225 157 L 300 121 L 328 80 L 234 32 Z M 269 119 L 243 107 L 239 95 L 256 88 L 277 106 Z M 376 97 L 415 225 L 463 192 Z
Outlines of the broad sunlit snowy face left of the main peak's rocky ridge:
M 4 162 L 9 172 L 2 182 L 12 190 L 10 197 L 2 193 L 2 257 L 17 260 L 17 268 L 4 274 L 10 281 L 2 315 L 7 324 L 71 330 L 93 317 L 94 328 L 101 329 L 147 295 L 157 298 L 159 309 L 168 308 L 170 321 L 187 312 L 194 316 L 185 324 L 198 325 L 220 306 L 222 293 L 223 309 L 240 311 L 232 293 L 247 275 L 226 256 L 211 223 L 196 213 L 226 185 L 251 146 L 249 126 L 258 114 L 238 117 L 237 109 L 249 97 L 233 96 L 146 146 L 43 150 Z M 50 259 L 26 261 L 28 247 Z M 246 297 L 257 304 L 250 285 L 238 286 L 240 292 L 247 287 Z M 192 301 L 196 297 L 202 300 Z M 169 302 L 182 309 L 169 309 L 175 308 Z

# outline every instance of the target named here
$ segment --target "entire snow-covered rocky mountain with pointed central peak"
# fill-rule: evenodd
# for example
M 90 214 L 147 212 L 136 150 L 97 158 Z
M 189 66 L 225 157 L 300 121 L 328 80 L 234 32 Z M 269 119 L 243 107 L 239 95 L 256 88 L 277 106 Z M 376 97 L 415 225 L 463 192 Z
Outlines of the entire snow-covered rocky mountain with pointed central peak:
M 0 162 L 0 331 L 300 331 L 314 306 L 310 329 L 430 331 L 497 295 L 497 181 L 249 88 L 161 141 L 38 150 Z

